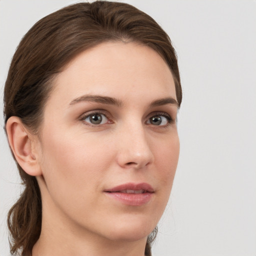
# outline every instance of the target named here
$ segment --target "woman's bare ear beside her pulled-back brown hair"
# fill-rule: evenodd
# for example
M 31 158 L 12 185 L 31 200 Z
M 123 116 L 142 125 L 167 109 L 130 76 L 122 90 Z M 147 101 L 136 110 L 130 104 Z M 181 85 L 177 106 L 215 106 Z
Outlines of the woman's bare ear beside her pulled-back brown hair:
M 9 117 L 6 123 L 6 132 L 11 150 L 21 168 L 29 175 L 41 175 L 39 154 L 35 147 L 35 135 L 28 132 L 17 116 Z

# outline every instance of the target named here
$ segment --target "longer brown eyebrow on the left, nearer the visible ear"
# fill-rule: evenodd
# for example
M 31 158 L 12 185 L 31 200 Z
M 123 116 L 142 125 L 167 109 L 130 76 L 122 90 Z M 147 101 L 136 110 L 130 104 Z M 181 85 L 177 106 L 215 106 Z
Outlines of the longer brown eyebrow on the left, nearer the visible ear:
M 119 99 L 108 97 L 108 96 L 92 95 L 92 94 L 86 94 L 78 98 L 75 98 L 69 103 L 69 105 L 73 105 L 81 101 L 92 101 L 92 102 L 98 102 L 102 104 L 122 106 L 122 101 Z

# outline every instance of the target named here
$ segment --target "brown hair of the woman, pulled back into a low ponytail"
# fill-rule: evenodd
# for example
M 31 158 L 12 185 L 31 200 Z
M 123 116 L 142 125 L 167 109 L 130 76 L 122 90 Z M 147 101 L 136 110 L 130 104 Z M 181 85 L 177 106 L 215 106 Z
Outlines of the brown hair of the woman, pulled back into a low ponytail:
M 31 132 L 39 134 L 54 76 L 83 50 L 108 41 L 135 41 L 154 49 L 170 68 L 180 106 L 182 92 L 176 53 L 156 21 L 127 3 L 80 2 L 43 17 L 21 39 L 4 87 L 5 125 L 10 116 L 17 116 Z M 5 126 L 4 129 L 6 132 Z M 16 164 L 24 189 L 8 212 L 7 224 L 10 253 L 24 256 L 31 254 L 39 238 L 42 206 L 36 178 L 28 175 L 17 161 Z M 156 232 L 157 228 L 148 235 L 147 256 L 151 255 Z

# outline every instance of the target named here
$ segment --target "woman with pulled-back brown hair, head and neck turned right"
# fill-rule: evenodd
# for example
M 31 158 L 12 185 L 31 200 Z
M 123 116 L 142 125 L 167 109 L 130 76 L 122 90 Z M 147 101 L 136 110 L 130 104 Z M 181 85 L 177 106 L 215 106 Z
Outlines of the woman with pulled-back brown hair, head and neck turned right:
M 151 255 L 177 165 L 175 51 L 147 14 L 77 3 L 22 38 L 4 88 L 24 191 L 11 253 Z

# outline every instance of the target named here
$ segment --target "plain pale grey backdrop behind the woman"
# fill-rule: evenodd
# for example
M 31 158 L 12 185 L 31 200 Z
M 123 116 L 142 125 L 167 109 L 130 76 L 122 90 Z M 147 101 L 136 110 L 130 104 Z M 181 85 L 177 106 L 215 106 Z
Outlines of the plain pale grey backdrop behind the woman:
M 0 0 L 0 106 L 15 47 L 70 0 Z M 177 51 L 183 87 L 180 158 L 154 256 L 256 255 L 256 1 L 127 0 Z M 20 192 L 0 112 L 0 255 Z

